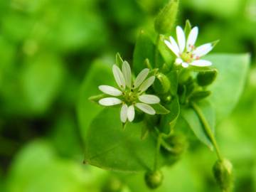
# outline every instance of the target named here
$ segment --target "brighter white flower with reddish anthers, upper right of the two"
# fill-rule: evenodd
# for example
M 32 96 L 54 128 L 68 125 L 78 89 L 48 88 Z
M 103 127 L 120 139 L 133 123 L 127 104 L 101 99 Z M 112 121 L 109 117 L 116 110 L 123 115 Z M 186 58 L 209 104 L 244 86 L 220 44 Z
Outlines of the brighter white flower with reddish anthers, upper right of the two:
M 196 48 L 196 38 L 198 36 L 198 27 L 192 28 L 186 41 L 186 36 L 180 26 L 176 27 L 176 36 L 178 43 L 170 36 L 170 41 L 164 41 L 171 51 L 177 56 L 175 63 L 188 68 L 189 65 L 198 67 L 207 67 L 212 65 L 209 60 L 202 60 L 201 57 L 213 49 L 213 43 L 206 43 Z

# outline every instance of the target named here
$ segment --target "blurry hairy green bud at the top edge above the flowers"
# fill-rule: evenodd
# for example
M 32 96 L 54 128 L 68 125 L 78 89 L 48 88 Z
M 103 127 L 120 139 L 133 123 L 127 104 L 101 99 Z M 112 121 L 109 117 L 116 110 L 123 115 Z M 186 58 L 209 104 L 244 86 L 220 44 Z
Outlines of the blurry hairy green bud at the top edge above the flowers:
M 178 0 L 170 0 L 160 11 L 154 22 L 154 28 L 157 33 L 170 33 L 176 21 L 178 12 Z

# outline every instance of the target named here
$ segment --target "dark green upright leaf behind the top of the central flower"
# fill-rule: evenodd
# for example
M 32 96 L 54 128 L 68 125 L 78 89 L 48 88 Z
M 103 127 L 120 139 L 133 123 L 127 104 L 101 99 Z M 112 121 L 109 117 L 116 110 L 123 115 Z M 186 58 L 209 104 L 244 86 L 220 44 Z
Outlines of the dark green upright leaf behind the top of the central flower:
M 144 64 L 146 58 L 149 59 L 149 63 L 151 63 L 151 65 L 154 64 L 154 50 L 154 43 L 149 34 L 141 31 L 137 38 L 133 53 L 133 70 L 135 75 L 146 68 L 146 65 Z

